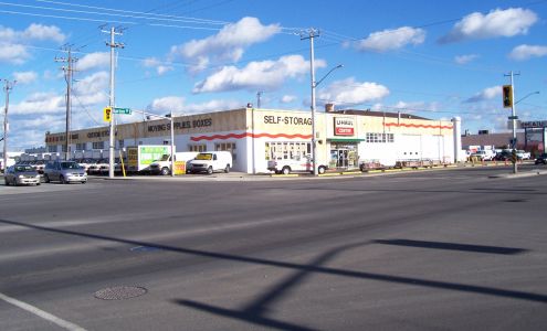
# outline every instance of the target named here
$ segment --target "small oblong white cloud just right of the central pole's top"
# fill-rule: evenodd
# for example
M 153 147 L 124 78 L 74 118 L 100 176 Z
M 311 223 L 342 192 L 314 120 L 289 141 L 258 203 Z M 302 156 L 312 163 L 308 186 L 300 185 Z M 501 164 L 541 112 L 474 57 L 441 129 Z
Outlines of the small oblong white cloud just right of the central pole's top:
M 357 42 L 355 46 L 359 51 L 386 52 L 399 50 L 409 44 L 419 45 L 424 41 L 424 30 L 402 26 L 370 33 L 367 39 Z

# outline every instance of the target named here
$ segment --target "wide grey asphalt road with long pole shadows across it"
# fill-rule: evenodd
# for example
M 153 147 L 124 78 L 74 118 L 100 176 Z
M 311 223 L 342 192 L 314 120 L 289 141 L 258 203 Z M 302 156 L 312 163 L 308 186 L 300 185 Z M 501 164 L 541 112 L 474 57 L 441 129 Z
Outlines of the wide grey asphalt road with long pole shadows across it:
M 0 186 L 0 330 L 545 330 L 507 171 Z

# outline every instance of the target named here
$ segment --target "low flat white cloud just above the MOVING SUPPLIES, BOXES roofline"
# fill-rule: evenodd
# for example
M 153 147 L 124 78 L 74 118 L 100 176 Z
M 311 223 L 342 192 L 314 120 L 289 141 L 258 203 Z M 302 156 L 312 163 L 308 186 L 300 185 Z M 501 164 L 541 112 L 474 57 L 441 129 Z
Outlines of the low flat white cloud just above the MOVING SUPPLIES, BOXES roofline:
M 242 104 L 235 100 L 210 100 L 201 104 L 186 104 L 183 97 L 168 96 L 155 99 L 149 109 L 155 113 L 196 114 L 207 111 L 220 111 L 227 109 L 241 108 Z

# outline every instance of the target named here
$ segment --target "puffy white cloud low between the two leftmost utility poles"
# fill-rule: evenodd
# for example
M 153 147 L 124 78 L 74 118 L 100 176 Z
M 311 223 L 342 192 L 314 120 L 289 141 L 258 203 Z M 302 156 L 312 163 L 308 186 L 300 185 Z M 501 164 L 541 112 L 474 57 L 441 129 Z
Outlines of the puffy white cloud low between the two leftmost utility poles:
M 34 93 L 21 103 L 10 106 L 10 113 L 17 115 L 51 114 L 64 108 L 64 96 L 53 93 Z

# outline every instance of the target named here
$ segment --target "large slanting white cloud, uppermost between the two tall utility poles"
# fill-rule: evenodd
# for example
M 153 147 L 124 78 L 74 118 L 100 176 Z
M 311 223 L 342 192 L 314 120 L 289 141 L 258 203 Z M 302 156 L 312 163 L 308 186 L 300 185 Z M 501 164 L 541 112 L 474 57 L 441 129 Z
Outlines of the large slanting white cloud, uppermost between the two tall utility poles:
M 239 61 L 246 47 L 264 42 L 278 33 L 278 24 L 262 25 L 256 18 L 243 18 L 225 25 L 219 33 L 202 40 L 191 40 L 171 47 L 171 56 L 180 55 L 196 62 L 194 70 L 202 70 L 213 57 L 220 61 Z

